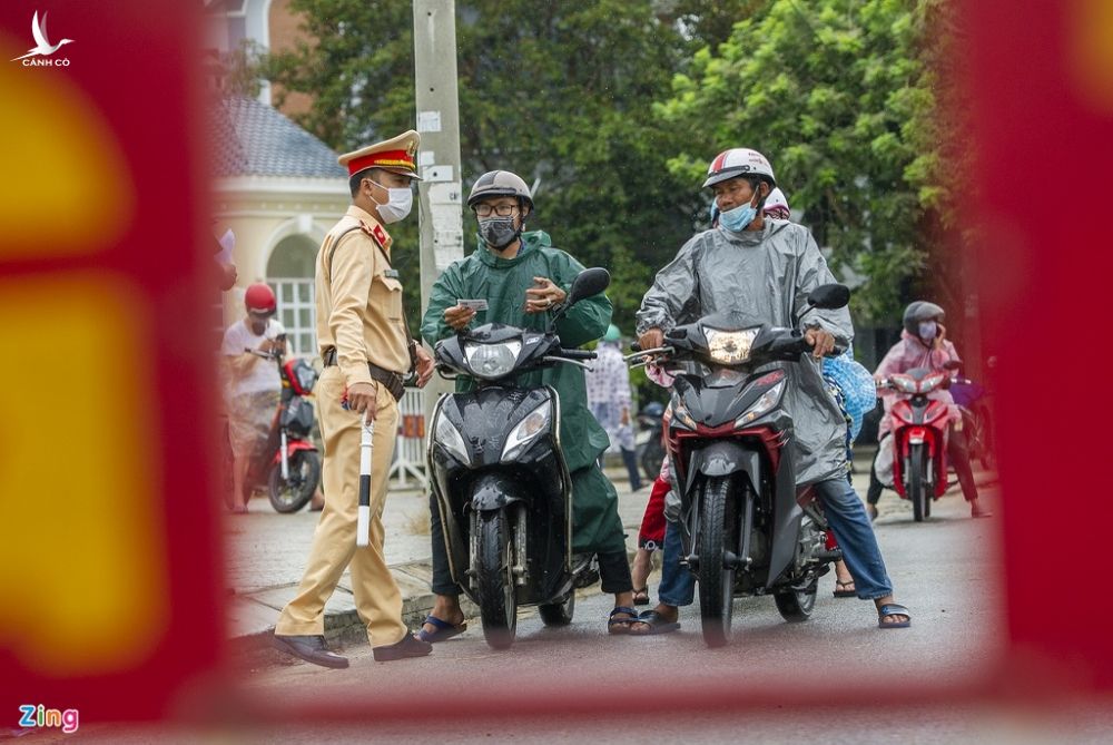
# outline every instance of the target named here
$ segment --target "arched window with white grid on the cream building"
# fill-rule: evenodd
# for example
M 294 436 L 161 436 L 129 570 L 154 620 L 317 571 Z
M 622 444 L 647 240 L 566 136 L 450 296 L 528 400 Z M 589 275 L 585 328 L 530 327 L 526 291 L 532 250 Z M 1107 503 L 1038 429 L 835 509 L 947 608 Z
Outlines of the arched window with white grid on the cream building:
M 305 235 L 278 242 L 267 259 L 267 282 L 278 296 L 278 321 L 286 326 L 289 353 L 317 354 L 316 305 L 313 271 L 317 244 Z

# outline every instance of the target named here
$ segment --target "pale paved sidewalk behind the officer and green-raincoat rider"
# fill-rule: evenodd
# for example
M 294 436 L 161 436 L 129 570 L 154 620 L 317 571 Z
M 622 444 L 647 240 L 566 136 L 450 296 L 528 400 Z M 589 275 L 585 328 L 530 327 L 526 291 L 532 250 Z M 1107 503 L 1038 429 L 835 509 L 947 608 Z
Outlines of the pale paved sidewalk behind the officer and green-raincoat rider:
M 623 469 L 608 469 L 607 474 L 618 490 L 627 547 L 633 551 L 650 483 L 643 481 L 641 490 L 631 494 Z M 297 591 L 318 517 L 319 512 L 307 510 L 279 514 L 262 496 L 252 500 L 248 514 L 224 517 L 225 577 L 229 585 L 228 636 L 234 647 L 246 651 L 269 648 L 269 635 L 278 620 L 278 611 Z M 416 629 L 432 610 L 434 598 L 430 590 L 433 571 L 429 498 L 416 489 L 400 490 L 392 486 L 383 523 L 386 561 L 402 590 L 403 620 Z M 580 592 L 599 592 L 599 586 Z M 474 616 L 477 612 L 474 604 L 466 598 L 462 600 L 464 612 Z M 325 639 L 337 643 L 366 640 L 347 571 L 325 606 Z

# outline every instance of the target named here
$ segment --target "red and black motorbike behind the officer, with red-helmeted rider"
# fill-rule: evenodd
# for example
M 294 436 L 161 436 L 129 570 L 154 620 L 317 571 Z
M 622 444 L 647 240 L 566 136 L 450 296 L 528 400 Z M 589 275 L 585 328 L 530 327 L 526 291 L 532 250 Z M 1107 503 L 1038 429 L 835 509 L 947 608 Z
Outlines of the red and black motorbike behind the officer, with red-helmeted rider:
M 252 350 L 248 350 L 252 351 Z M 280 354 L 253 352 L 278 365 L 282 395 L 270 422 L 266 444 L 248 465 L 244 490 L 248 497 L 266 489 L 277 512 L 297 512 L 313 499 L 321 482 L 321 457 L 309 439 L 313 430 L 313 403 L 308 396 L 317 382 L 315 371 L 305 360 L 284 360 Z M 226 493 L 233 492 L 232 448 L 226 451 Z

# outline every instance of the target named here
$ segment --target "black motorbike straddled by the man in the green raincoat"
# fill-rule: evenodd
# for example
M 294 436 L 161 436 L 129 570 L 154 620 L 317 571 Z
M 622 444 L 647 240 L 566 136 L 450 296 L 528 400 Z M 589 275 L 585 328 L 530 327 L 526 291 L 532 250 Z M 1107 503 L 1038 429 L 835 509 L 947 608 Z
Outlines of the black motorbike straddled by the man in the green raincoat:
M 479 605 L 483 636 L 496 649 L 513 644 L 519 606 L 536 605 L 546 626 L 570 624 L 574 588 L 591 571 L 592 557 L 572 555 L 560 399 L 518 378 L 556 364 L 585 367 L 595 357 L 563 349 L 554 327 L 609 284 L 605 269 L 584 269 L 546 331 L 485 324 L 434 350 L 443 376 L 476 383 L 437 401 L 427 460 L 453 580 Z

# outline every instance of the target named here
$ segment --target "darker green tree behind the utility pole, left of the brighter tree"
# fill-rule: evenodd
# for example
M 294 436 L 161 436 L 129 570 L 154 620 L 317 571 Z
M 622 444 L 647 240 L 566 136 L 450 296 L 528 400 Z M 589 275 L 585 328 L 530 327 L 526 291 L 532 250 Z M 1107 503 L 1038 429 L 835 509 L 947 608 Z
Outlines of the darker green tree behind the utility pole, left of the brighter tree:
M 627 333 L 654 271 L 676 254 L 702 209 L 693 183 L 667 166 L 684 134 L 656 119 L 651 106 L 689 49 L 703 43 L 692 19 L 722 6 L 457 2 L 465 188 L 494 168 L 535 183 L 532 226 L 584 264 L 611 269 L 609 294 Z M 266 61 L 279 105 L 284 90 L 313 95 L 299 122 L 341 151 L 413 126 L 410 3 L 294 0 L 292 8 L 304 14 L 313 42 Z M 720 35 L 725 29 L 729 21 L 708 24 Z M 465 233 L 474 227 L 466 216 Z M 414 236 L 407 224 L 400 238 Z M 411 307 L 416 315 L 416 304 Z

